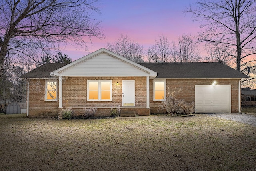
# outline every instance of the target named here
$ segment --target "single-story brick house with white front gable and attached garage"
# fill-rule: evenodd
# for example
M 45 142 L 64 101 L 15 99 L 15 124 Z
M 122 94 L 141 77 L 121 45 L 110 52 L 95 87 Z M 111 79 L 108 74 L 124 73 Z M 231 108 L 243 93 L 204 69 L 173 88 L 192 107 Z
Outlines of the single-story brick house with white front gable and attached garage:
M 104 48 L 70 64 L 45 64 L 23 76 L 28 80 L 32 117 L 62 118 L 63 107 L 83 115 L 97 107 L 106 116 L 110 107 L 137 115 L 161 113 L 168 92 L 195 101 L 196 113 L 240 112 L 240 80 L 247 76 L 222 63 L 135 63 Z

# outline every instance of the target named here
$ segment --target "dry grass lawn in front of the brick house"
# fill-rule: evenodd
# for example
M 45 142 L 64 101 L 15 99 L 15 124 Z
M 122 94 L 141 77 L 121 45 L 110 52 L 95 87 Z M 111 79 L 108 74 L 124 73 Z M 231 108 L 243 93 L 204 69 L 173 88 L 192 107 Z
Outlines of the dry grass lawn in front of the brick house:
M 255 134 L 208 115 L 0 118 L 0 170 L 255 170 Z

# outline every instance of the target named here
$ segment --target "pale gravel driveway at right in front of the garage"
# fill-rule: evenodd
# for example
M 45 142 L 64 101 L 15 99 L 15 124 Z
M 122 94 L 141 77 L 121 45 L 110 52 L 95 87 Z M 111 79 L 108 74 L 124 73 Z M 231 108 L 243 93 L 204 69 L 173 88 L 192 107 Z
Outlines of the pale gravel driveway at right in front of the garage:
M 209 114 L 210 117 L 219 117 L 222 119 L 228 119 L 233 121 L 239 121 L 242 123 L 247 123 L 256 126 L 256 115 L 246 114 L 246 113 L 216 113 Z

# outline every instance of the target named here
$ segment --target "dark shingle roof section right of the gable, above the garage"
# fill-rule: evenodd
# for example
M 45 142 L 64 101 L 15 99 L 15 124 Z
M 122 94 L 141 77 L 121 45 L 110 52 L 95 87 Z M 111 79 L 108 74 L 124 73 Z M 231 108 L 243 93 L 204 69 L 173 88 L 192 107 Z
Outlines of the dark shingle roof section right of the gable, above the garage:
M 245 74 L 220 62 L 138 63 L 157 72 L 156 78 L 246 78 Z

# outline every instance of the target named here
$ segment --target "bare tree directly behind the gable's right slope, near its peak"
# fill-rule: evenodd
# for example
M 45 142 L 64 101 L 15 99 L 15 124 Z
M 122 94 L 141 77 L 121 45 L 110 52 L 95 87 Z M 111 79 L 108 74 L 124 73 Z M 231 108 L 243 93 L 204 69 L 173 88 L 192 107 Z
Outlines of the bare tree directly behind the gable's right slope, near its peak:
M 106 48 L 133 62 L 144 62 L 143 46 L 128 38 L 127 35 L 121 34 L 120 38 L 115 40 L 114 43 L 107 42 Z

